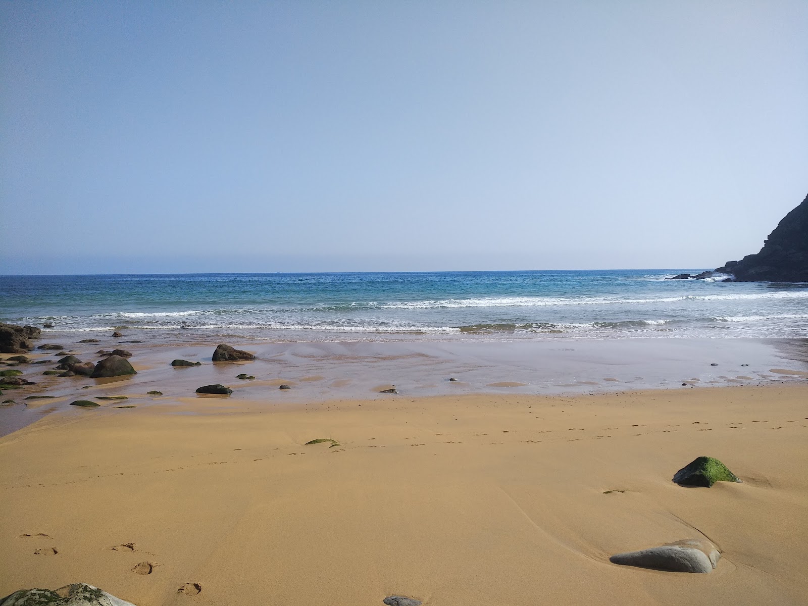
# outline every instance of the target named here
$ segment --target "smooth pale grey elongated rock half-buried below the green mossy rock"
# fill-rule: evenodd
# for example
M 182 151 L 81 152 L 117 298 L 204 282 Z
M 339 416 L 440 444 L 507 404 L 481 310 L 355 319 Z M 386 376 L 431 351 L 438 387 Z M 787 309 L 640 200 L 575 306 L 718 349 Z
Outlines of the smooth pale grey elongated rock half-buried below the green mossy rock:
M 609 559 L 612 564 L 639 566 L 670 572 L 712 572 L 721 558 L 716 546 L 709 541 L 685 539 L 659 547 L 617 553 Z

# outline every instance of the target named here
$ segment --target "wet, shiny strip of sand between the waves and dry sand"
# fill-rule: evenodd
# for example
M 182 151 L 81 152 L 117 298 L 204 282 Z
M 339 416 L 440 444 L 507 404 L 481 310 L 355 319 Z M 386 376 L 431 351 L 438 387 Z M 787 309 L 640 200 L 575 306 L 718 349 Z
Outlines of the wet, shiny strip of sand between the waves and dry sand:
M 196 398 L 200 385 L 220 383 L 234 389 L 230 399 L 266 406 L 304 406 L 340 399 L 389 400 L 379 393 L 395 387 L 406 398 L 468 394 L 574 395 L 642 389 L 692 389 L 720 385 L 789 385 L 808 379 L 806 339 L 616 339 L 550 342 L 473 343 L 238 343 L 256 360 L 212 363 L 215 344 L 71 343 L 65 351 L 96 360 L 99 347 L 131 347 L 130 377 L 89 379 L 54 377 L 42 372 L 57 356 L 34 350 L 32 362 L 14 367 L 37 385 L 6 389 L 0 407 L 0 436 L 53 412 L 74 414 L 69 402 L 97 396 L 126 396 L 128 403 L 151 406 L 176 398 Z M 68 343 L 63 343 L 68 345 Z M 3 355 L 5 360 L 11 354 Z M 176 358 L 200 367 L 174 368 Z M 5 368 L 5 367 L 2 367 Z M 236 378 L 239 373 L 254 381 Z M 455 381 L 449 381 L 455 379 Z M 279 385 L 292 389 L 279 390 Z M 146 392 L 157 390 L 159 396 Z M 26 400 L 28 396 L 48 398 Z

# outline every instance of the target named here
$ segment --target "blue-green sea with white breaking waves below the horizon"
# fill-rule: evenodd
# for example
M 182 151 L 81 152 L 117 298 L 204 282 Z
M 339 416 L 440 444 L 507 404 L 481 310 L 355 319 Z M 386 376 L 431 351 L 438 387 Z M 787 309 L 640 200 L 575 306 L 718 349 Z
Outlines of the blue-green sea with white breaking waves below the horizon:
M 0 276 L 0 319 L 145 343 L 808 337 L 808 284 L 682 271 Z

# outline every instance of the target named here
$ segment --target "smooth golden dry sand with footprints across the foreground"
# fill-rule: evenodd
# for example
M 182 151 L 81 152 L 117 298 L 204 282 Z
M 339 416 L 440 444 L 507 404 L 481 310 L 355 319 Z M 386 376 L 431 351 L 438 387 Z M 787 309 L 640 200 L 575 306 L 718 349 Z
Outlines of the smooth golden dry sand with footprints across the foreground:
M 800 385 L 49 415 L 0 439 L 0 595 L 85 582 L 138 606 L 806 604 L 806 404 Z M 317 438 L 339 446 L 304 445 Z M 700 455 L 743 484 L 673 484 Z M 711 574 L 608 562 L 703 536 L 722 550 Z

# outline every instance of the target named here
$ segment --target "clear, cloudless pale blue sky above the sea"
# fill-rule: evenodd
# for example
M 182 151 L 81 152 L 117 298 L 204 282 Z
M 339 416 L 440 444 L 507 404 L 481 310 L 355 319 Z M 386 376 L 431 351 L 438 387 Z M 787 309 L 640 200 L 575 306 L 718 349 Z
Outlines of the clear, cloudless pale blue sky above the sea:
M 0 274 L 718 267 L 804 0 L 0 1 Z

